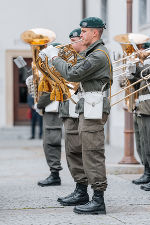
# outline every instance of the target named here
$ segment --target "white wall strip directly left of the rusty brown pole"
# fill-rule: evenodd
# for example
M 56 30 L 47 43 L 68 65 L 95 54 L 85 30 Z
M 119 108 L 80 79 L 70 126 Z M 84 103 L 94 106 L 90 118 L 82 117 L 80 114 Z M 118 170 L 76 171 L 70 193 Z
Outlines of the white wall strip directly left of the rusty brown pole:
M 114 4 L 115 3 L 115 4 Z M 113 52 L 122 54 L 122 48 L 119 43 L 114 41 L 114 37 L 126 33 L 126 1 L 109 0 L 108 4 L 108 33 L 109 49 L 113 58 Z M 116 75 L 116 74 L 114 74 Z M 118 79 L 114 79 L 112 94 L 119 90 Z M 112 103 L 123 97 L 119 95 L 112 99 Z M 110 114 L 110 143 L 112 146 L 123 147 L 124 141 L 124 102 L 121 102 L 111 108 Z

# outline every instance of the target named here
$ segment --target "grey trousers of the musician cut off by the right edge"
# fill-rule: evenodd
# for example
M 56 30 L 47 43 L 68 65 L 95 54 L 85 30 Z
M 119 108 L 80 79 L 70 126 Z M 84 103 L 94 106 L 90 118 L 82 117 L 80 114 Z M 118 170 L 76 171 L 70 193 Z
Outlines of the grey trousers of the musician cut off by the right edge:
M 150 116 L 141 115 L 145 161 L 150 167 Z

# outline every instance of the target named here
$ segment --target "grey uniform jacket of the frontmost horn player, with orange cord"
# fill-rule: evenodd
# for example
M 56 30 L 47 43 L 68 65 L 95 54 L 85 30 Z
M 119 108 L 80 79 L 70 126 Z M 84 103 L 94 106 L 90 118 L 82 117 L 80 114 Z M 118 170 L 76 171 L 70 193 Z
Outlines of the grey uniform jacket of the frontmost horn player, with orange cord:
M 109 64 L 109 60 L 103 51 L 109 57 L 108 50 L 100 39 L 83 52 L 84 59 L 79 60 L 74 66 L 67 64 L 60 57 L 55 58 L 52 64 L 67 81 L 81 82 L 85 92 L 101 91 L 104 84 L 106 84 L 105 90 L 107 90 L 110 87 L 110 80 L 112 84 L 112 64 L 111 61 Z M 76 105 L 77 113 L 84 112 L 83 104 L 84 99 L 81 98 Z M 110 104 L 107 98 L 104 98 L 103 112 L 108 114 L 110 112 Z

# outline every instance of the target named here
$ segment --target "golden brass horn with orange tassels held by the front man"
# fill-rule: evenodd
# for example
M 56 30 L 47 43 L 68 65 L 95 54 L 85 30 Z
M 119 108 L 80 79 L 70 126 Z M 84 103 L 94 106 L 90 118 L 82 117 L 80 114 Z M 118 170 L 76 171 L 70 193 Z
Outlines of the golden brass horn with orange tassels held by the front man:
M 67 63 L 72 65 L 77 63 L 77 52 L 72 48 L 71 44 L 56 46 L 56 48 L 59 48 L 58 56 Z M 52 92 L 50 100 L 65 101 L 71 98 L 79 87 L 78 83 L 66 81 L 56 68 L 49 64 L 47 56 L 44 61 L 38 57 L 36 65 L 42 74 L 51 79 Z

